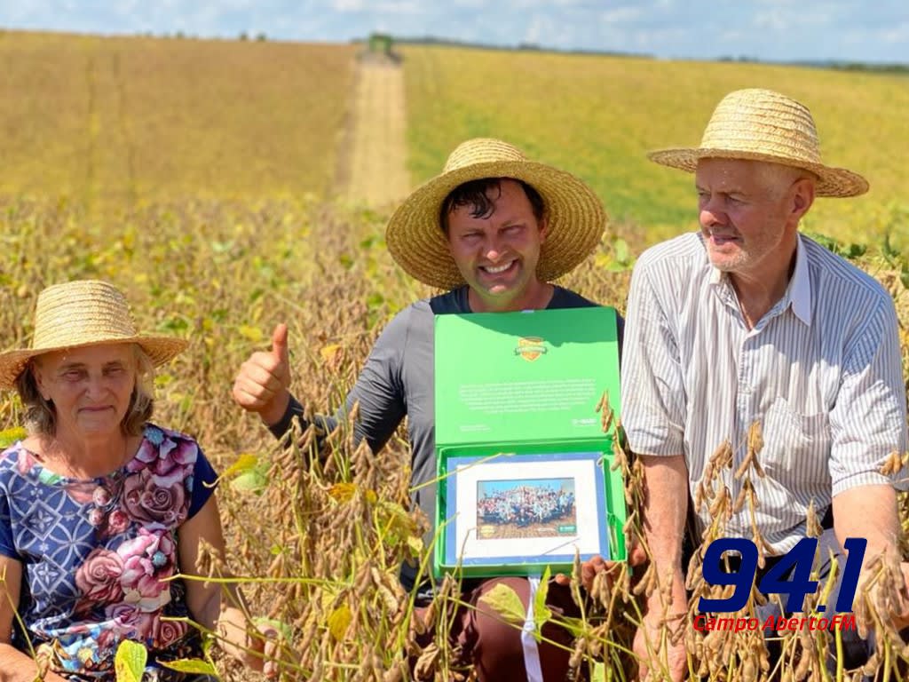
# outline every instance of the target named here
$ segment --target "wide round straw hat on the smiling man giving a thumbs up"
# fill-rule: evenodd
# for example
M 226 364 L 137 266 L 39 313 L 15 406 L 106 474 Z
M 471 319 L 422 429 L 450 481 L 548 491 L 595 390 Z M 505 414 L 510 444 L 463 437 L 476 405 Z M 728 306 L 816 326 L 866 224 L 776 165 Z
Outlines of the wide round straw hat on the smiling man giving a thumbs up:
M 464 285 L 439 214 L 455 187 L 487 177 L 523 180 L 543 197 L 548 230 L 536 268 L 542 281 L 572 270 L 600 243 L 606 213 L 590 187 L 551 165 L 528 160 L 512 145 L 480 137 L 458 145 L 442 175 L 417 188 L 388 221 L 388 250 L 409 275 L 444 289 Z

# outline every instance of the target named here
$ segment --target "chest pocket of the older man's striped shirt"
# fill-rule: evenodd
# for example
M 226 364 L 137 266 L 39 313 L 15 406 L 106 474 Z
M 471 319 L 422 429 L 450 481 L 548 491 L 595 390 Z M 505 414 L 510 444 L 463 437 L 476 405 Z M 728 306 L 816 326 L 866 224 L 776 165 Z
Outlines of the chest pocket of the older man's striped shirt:
M 768 476 L 793 492 L 809 492 L 830 480 L 830 419 L 826 412 L 803 415 L 784 397 L 764 413 L 764 448 L 759 455 Z

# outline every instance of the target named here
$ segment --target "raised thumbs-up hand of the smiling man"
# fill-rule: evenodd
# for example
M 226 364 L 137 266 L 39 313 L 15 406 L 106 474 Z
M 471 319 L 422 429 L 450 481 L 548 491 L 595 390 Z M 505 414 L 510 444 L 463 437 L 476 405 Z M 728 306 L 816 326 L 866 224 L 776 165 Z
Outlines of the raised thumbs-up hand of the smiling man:
M 234 400 L 271 426 L 284 416 L 290 402 L 289 387 L 287 326 L 280 323 L 272 332 L 271 350 L 256 351 L 240 366 L 234 380 Z

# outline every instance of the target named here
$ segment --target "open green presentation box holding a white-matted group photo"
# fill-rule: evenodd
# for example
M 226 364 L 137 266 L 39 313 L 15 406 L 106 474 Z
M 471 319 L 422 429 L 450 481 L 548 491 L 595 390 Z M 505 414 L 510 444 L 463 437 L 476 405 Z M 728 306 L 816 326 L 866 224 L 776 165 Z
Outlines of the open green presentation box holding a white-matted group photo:
M 614 308 L 436 316 L 435 575 L 623 561 L 619 413 Z

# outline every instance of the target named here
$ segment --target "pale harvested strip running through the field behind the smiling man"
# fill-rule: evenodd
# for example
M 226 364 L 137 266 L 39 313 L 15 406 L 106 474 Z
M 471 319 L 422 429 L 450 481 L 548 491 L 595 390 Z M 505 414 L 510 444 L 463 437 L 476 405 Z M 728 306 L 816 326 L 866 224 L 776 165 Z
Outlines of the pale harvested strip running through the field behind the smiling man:
M 356 66 L 354 101 L 337 173 L 351 203 L 392 206 L 410 190 L 405 167 L 404 69 L 393 62 Z

